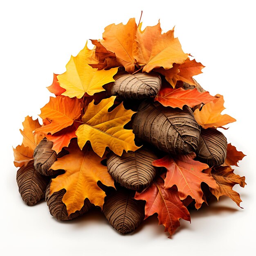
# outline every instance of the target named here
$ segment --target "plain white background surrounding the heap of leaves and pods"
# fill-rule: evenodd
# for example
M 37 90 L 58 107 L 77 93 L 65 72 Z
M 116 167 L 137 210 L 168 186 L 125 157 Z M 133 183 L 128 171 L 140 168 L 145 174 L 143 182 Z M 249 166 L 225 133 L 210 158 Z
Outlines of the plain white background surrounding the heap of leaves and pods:
M 168 2 L 168 4 L 166 4 Z M 2 255 L 252 255 L 255 248 L 255 13 L 254 1 L 1 1 L 0 4 L 0 214 Z M 206 67 L 195 79 L 212 95 L 224 95 L 225 113 L 237 119 L 224 130 L 247 157 L 235 172 L 247 186 L 235 189 L 240 209 L 229 198 L 191 213 L 191 224 L 167 238 L 157 217 L 134 234 L 119 235 L 99 211 L 58 222 L 45 202 L 23 203 L 16 184 L 12 146 L 19 128 L 49 100 L 52 73 L 65 72 L 70 55 L 104 27 L 135 17 L 164 32 L 175 26 L 184 52 Z

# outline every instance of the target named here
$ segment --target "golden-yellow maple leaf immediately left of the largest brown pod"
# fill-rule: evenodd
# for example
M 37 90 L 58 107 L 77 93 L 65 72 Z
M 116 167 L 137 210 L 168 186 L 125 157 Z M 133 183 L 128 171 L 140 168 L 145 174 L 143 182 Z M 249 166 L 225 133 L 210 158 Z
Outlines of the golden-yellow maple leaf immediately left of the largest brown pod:
M 115 98 L 112 96 L 103 99 L 98 105 L 94 105 L 94 101 L 89 103 L 82 117 L 84 124 L 76 131 L 81 149 L 87 141 L 90 141 L 94 152 L 102 157 L 107 146 L 119 156 L 122 155 L 123 150 L 135 151 L 139 148 L 134 143 L 135 136 L 132 130 L 124 129 L 124 125 L 130 121 L 135 112 L 126 110 L 123 103 L 108 112 Z

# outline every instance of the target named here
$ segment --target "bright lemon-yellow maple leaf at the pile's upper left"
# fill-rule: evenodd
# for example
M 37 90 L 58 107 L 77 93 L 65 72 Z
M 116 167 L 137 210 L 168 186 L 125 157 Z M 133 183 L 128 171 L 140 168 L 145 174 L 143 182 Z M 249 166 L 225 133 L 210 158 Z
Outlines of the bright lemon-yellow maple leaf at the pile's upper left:
M 96 92 L 104 91 L 104 84 L 115 81 L 113 76 L 117 73 L 118 67 L 98 70 L 89 64 L 98 64 L 98 61 L 95 49 L 88 49 L 86 43 L 76 57 L 71 56 L 66 65 L 67 71 L 57 76 L 60 86 L 66 90 L 62 95 L 81 99 L 85 92 L 92 96 Z

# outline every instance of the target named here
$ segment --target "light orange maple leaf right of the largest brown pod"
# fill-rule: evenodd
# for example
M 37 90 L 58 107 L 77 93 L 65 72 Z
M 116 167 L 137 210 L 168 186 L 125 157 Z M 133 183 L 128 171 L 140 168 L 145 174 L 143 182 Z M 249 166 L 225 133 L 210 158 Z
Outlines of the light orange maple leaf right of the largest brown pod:
M 224 99 L 220 94 L 215 95 L 216 99 L 202 106 L 202 109 L 194 111 L 195 119 L 204 129 L 210 127 L 221 127 L 236 121 L 233 117 L 220 113 L 224 110 Z

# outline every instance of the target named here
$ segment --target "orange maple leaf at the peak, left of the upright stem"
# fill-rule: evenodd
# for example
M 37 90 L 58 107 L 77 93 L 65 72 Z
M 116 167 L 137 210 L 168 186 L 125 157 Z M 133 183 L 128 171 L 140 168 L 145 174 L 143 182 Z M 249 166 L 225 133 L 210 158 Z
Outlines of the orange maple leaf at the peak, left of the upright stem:
M 101 44 L 109 51 L 115 53 L 117 61 L 129 73 L 133 73 L 135 69 L 134 48 L 136 31 L 137 24 L 135 18 L 131 18 L 126 25 L 123 23 L 108 25 L 102 34 L 103 40 L 101 40 Z

